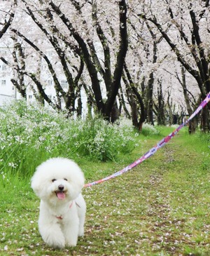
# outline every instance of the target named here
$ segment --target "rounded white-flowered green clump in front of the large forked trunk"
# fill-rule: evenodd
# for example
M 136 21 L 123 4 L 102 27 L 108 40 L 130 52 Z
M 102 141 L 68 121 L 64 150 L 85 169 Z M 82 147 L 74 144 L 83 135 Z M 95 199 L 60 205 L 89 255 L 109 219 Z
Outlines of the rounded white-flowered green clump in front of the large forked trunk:
M 71 128 L 74 152 L 90 160 L 117 161 L 120 154 L 134 149 L 135 137 L 139 136 L 130 124 L 111 124 L 99 118 L 74 121 Z

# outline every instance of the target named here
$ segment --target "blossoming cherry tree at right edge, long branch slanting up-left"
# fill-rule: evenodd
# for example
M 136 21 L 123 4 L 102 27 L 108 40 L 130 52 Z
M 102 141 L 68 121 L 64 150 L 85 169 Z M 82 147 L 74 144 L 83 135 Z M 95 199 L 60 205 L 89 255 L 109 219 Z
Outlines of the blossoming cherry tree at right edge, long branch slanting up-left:
M 145 1 L 139 17 L 163 36 L 187 72 L 197 81 L 202 98 L 210 91 L 209 1 Z M 161 13 L 161 15 L 160 15 Z M 168 27 L 170 29 L 168 30 Z M 202 129 L 209 130 L 209 111 L 202 112 Z

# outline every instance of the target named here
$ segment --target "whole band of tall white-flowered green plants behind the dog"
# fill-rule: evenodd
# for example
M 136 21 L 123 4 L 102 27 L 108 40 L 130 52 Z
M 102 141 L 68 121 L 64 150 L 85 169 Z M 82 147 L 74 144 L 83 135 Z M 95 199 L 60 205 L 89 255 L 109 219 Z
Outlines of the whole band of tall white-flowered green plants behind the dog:
M 50 157 L 116 161 L 134 149 L 130 124 L 118 126 L 103 119 L 67 119 L 38 105 L 15 102 L 0 109 L 1 172 L 34 172 Z

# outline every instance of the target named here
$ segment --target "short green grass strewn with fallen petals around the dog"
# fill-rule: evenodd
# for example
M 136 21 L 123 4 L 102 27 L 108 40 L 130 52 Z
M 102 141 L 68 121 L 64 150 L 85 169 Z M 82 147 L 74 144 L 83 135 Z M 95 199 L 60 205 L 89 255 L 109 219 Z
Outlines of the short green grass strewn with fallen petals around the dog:
M 121 170 L 168 134 L 143 137 L 118 163 L 80 159 L 86 182 Z M 76 248 L 48 248 L 29 179 L 8 180 L 1 187 L 0 255 L 210 255 L 209 144 L 183 129 L 130 172 L 83 189 L 85 236 Z

